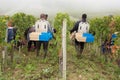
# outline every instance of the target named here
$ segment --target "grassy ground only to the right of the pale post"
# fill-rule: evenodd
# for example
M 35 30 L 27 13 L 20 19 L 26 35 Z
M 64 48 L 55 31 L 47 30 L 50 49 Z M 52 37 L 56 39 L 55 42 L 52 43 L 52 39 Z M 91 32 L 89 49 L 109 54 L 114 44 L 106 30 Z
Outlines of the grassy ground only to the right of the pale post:
M 72 46 L 72 45 L 71 45 Z M 93 53 L 85 49 L 81 59 L 75 57 L 75 53 L 69 53 L 67 66 L 67 80 L 119 80 L 119 67 L 116 62 L 105 62 L 100 53 Z M 73 47 L 74 49 L 74 47 Z M 87 53 L 89 52 L 89 53 Z M 72 58 L 74 56 L 74 58 Z M 116 72 L 117 71 L 117 72 Z

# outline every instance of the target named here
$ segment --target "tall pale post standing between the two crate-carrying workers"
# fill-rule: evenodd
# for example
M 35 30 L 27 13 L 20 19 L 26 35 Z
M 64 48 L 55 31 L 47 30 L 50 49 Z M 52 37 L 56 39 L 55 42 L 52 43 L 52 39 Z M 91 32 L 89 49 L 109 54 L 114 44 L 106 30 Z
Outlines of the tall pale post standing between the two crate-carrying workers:
M 62 70 L 62 77 L 63 80 L 66 80 L 66 27 L 67 27 L 67 20 L 63 20 L 63 27 L 62 27 L 62 54 L 63 54 L 63 70 Z

